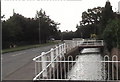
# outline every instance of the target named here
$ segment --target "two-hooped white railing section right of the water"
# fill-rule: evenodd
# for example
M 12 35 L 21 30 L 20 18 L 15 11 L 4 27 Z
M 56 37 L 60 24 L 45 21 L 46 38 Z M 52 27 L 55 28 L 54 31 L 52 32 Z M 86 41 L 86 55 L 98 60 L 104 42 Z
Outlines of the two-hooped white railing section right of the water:
M 118 56 L 114 55 L 112 57 L 105 55 L 104 61 L 101 61 L 104 64 L 104 78 L 105 80 L 120 80 L 118 78 L 118 69 L 120 70 L 118 64 L 120 61 L 118 60 Z

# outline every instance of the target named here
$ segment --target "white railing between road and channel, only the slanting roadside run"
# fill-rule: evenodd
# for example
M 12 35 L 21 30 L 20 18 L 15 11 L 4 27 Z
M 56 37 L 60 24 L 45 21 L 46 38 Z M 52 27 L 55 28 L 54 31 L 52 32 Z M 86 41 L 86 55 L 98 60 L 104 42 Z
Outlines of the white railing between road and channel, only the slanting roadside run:
M 61 61 L 62 57 L 64 57 L 64 54 L 76 46 L 77 45 L 64 43 L 56 46 L 55 48 L 51 48 L 51 50 L 48 52 L 42 52 L 41 55 L 35 57 L 33 59 L 33 61 L 35 61 L 35 75 L 36 75 L 34 80 L 40 77 L 47 78 L 48 77 L 47 69 L 51 68 L 54 69 L 55 67 L 54 62 Z

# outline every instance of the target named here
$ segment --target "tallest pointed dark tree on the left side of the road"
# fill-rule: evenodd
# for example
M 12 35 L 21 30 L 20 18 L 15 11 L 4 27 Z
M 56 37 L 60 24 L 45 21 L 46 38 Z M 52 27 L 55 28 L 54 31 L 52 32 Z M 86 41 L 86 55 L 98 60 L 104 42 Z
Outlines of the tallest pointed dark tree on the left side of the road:
M 46 43 L 50 37 L 55 37 L 58 33 L 57 25 L 60 23 L 54 22 L 49 16 L 46 15 L 42 9 L 37 11 L 36 20 L 39 23 L 40 40 L 41 43 Z

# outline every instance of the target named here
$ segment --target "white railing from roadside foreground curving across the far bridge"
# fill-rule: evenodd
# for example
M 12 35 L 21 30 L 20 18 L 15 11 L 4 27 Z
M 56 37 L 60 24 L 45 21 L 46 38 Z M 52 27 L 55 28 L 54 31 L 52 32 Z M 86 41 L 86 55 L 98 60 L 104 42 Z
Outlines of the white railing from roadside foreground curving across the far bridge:
M 42 52 L 39 56 L 33 58 L 33 61 L 35 61 L 35 77 L 33 80 L 48 79 L 48 78 L 51 79 L 52 75 L 54 77 L 54 69 L 56 68 L 56 65 L 58 63 L 76 62 L 73 60 L 72 61 L 65 60 L 64 57 L 68 51 L 83 44 L 90 45 L 91 42 L 93 42 L 94 45 L 97 44 L 97 42 L 103 45 L 103 40 L 81 40 L 81 41 L 73 40 L 70 43 L 63 43 L 58 46 L 55 46 L 55 48 L 51 48 L 47 52 Z M 62 60 L 63 58 L 64 60 Z M 49 71 L 52 71 L 53 73 Z

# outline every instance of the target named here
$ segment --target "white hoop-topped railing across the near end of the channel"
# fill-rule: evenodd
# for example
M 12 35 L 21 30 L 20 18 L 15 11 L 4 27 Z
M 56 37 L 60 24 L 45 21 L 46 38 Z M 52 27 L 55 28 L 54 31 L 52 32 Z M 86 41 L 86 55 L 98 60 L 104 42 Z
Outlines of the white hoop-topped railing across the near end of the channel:
M 75 58 L 75 59 L 74 59 Z M 109 60 L 109 56 L 104 56 L 103 61 L 80 61 L 78 60 L 79 56 L 76 57 L 68 56 L 65 58 L 65 56 L 62 57 L 62 60 L 54 60 L 54 61 L 36 61 L 37 64 L 42 63 L 42 65 L 46 65 L 40 73 L 36 75 L 36 77 L 33 80 L 70 80 L 71 77 L 68 76 L 69 72 L 71 71 L 72 67 L 79 66 L 75 65 L 76 63 L 102 63 L 103 64 L 103 79 L 102 81 L 118 81 L 120 80 L 118 78 L 118 63 L 120 61 L 117 60 L 117 56 L 113 56 L 112 59 L 115 58 L 115 60 Z M 47 65 L 47 63 L 49 63 Z M 51 65 L 50 65 L 51 64 Z M 111 65 L 112 64 L 112 65 Z M 110 67 L 110 65 L 112 67 Z M 114 69 L 114 66 L 116 65 L 116 70 Z M 39 66 L 40 68 L 41 66 Z M 76 67 L 77 68 L 77 67 Z M 101 70 L 101 71 L 102 71 Z M 78 72 L 79 73 L 79 72 Z M 78 73 L 76 72 L 74 74 L 74 80 L 79 80 Z M 116 73 L 116 74 L 115 74 Z M 110 76 L 110 74 L 112 76 Z M 79 75 L 80 76 L 80 75 Z M 73 77 L 73 76 L 72 76 Z M 92 77 L 92 75 L 91 75 Z

